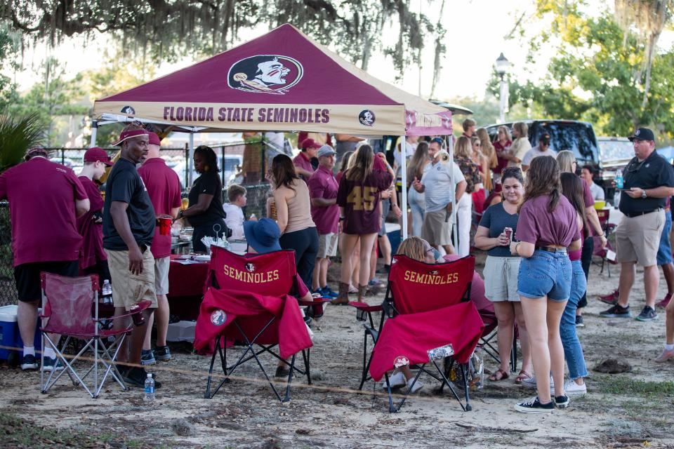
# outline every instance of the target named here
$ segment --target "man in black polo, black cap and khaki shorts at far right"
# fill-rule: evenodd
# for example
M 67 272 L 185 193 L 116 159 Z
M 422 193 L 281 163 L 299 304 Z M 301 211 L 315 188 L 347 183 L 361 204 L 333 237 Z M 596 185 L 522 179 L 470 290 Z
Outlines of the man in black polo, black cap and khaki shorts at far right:
M 635 157 L 626 166 L 620 196 L 623 219 L 616 229 L 616 260 L 621 263 L 618 302 L 601 316 L 629 318 L 630 290 L 634 284 L 635 264 L 644 267 L 646 306 L 639 321 L 657 318 L 655 295 L 660 274 L 656 256 L 665 225 L 665 201 L 674 194 L 674 170 L 655 152 L 655 136 L 648 128 L 639 128 L 631 136 Z

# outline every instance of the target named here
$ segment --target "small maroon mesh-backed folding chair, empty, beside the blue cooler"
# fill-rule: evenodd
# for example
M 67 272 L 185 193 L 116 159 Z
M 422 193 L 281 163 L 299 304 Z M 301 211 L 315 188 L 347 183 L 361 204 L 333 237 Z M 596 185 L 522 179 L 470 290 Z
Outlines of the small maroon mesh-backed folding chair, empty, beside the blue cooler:
M 66 277 L 51 273 L 40 273 L 42 289 L 42 347 L 51 347 L 56 353 L 56 364 L 62 364 L 65 368 L 57 373 L 54 369 L 44 379 L 44 372 L 40 373 L 40 386 L 42 393 L 60 379 L 63 373 L 68 373 L 70 380 L 74 385 L 81 385 L 82 388 L 92 397 L 98 398 L 100 390 L 105 384 L 108 375 L 117 381 L 121 389 L 126 390 L 124 380 L 122 380 L 115 360 L 119 353 L 119 348 L 124 337 L 131 333 L 131 326 L 119 330 L 105 330 L 101 328 L 101 321 L 120 319 L 125 316 L 138 314 L 147 307 L 150 307 L 150 301 L 141 301 L 138 309 L 133 313 L 121 316 L 103 316 L 99 315 L 103 304 L 98 304 L 98 276 L 91 274 L 89 276 Z M 65 336 L 65 342 L 59 348 L 58 341 L 54 342 L 48 333 L 60 334 Z M 108 337 L 117 337 L 112 344 L 108 344 Z M 65 356 L 65 348 L 71 339 L 84 340 L 84 346 L 79 349 L 75 356 Z M 89 366 L 84 374 L 79 375 L 75 370 L 74 364 L 83 358 L 86 352 L 91 351 L 93 355 L 93 364 Z M 68 360 L 70 358 L 70 361 Z M 44 351 L 42 351 L 42 363 L 44 364 Z M 99 364 L 103 366 L 103 377 L 99 380 Z M 90 389 L 84 382 L 86 377 L 93 372 L 93 387 Z

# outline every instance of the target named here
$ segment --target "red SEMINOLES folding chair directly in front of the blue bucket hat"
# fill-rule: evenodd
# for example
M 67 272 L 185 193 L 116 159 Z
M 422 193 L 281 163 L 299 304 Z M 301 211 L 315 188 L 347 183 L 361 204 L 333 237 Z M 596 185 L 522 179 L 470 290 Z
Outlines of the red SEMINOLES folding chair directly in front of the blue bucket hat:
M 208 290 L 199 310 L 195 330 L 194 347 L 199 353 L 211 350 L 211 366 L 206 382 L 206 398 L 212 398 L 234 370 L 251 359 L 255 359 L 272 391 L 279 401 L 290 399 L 290 384 L 293 373 L 310 377 L 310 347 L 308 330 L 301 316 L 297 292 L 297 272 L 295 253 L 281 250 L 258 255 L 237 255 L 223 248 L 211 247 L 211 264 L 206 281 Z M 234 319 L 232 319 L 234 316 Z M 221 321 L 221 322 L 220 322 Z M 291 322 L 290 331 L 287 323 Z M 258 356 L 271 354 L 284 361 L 284 339 L 291 339 L 289 347 L 297 349 L 291 353 L 290 373 L 286 382 L 285 396 L 282 397 L 267 375 Z M 227 366 L 227 347 L 241 342 L 245 349 L 232 366 Z M 279 346 L 279 353 L 272 351 Z M 256 349 L 258 347 L 259 349 Z M 301 351 L 304 370 L 295 366 L 296 353 Z M 216 354 L 220 356 L 225 377 L 211 391 L 213 366 Z

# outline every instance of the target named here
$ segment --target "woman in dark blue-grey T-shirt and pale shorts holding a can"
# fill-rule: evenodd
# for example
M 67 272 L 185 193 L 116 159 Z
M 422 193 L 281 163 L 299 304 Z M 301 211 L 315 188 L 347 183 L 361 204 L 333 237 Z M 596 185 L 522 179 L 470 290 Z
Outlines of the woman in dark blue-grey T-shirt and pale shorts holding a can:
M 503 201 L 489 206 L 484 211 L 475 233 L 475 246 L 487 251 L 484 262 L 484 295 L 494 303 L 498 321 L 498 357 L 501 366 L 489 377 L 491 382 L 508 379 L 510 349 L 513 347 L 515 320 L 522 342 L 522 370 L 515 384 L 531 379 L 531 352 L 529 334 L 524 323 L 520 295 L 517 294 L 517 274 L 520 272 L 520 257 L 510 254 L 510 240 L 517 230 L 517 209 L 524 196 L 524 179 L 518 167 L 504 168 L 501 172 Z M 505 232 L 510 228 L 512 234 Z

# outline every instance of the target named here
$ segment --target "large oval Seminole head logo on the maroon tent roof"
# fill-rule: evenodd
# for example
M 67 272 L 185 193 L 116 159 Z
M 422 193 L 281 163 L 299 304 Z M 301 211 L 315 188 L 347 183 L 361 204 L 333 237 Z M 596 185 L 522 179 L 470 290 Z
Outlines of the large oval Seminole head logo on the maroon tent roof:
M 256 55 L 235 62 L 227 73 L 227 84 L 239 91 L 284 95 L 303 73 L 302 65 L 288 56 Z

